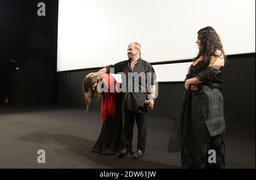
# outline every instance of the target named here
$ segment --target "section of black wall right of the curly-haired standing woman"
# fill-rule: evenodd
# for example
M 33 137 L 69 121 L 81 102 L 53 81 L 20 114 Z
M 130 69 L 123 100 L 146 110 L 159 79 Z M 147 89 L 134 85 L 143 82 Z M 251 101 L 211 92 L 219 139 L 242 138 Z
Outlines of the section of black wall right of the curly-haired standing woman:
M 232 55 L 228 61 L 222 70 L 228 125 L 255 128 L 255 53 Z

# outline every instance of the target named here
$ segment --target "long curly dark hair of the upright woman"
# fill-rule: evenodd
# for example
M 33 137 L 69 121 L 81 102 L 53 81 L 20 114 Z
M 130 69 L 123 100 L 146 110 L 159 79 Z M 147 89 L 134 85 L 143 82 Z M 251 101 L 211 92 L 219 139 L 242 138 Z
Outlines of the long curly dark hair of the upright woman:
M 203 29 L 200 29 L 197 32 L 198 39 L 201 41 L 199 53 L 197 56 L 193 59 L 193 61 L 196 61 L 196 59 L 203 57 L 204 63 L 209 65 L 210 63 L 210 57 L 214 55 L 214 57 L 221 57 L 223 55 L 224 59 L 226 59 L 226 55 L 223 50 L 223 45 L 220 40 L 220 36 L 218 36 L 215 29 L 212 27 L 205 27 Z M 221 54 L 217 55 L 216 51 L 220 50 Z

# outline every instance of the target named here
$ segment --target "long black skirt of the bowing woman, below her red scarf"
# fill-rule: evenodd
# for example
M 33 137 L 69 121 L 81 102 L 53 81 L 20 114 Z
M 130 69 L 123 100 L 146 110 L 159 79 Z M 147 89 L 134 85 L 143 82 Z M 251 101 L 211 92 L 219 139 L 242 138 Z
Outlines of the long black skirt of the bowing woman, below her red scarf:
M 92 148 L 93 153 L 115 155 L 123 148 L 122 93 L 115 96 L 115 118 L 103 122 L 100 136 Z

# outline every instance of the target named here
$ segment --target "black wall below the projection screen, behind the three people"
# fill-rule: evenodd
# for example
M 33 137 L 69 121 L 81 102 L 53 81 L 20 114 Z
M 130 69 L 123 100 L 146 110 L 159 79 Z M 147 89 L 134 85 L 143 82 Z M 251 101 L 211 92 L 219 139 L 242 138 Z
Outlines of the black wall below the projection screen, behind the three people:
M 85 109 L 81 82 L 86 74 L 97 70 L 59 72 L 57 104 Z M 255 127 L 255 53 L 230 55 L 222 73 L 227 125 Z M 184 83 L 159 83 L 158 89 L 158 98 L 150 115 L 175 118 L 181 105 Z M 100 108 L 100 101 L 94 101 L 90 106 L 90 109 L 99 112 Z

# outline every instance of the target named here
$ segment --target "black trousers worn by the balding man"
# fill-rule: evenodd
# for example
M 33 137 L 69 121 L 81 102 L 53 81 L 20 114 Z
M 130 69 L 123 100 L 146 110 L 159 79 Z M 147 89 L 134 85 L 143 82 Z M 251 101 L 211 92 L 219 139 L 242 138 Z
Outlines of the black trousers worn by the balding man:
M 131 151 L 133 148 L 133 127 L 136 121 L 138 127 L 138 144 L 137 150 L 145 151 L 147 138 L 147 121 L 146 113 L 137 113 L 130 110 L 124 110 L 123 125 L 123 147 Z

